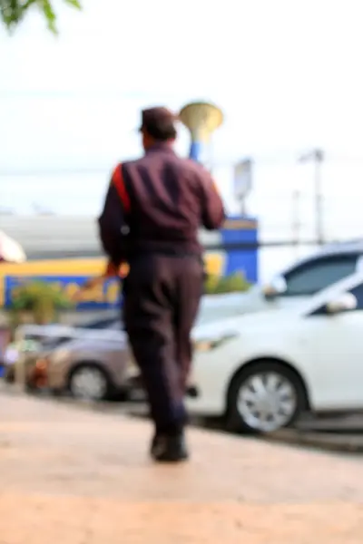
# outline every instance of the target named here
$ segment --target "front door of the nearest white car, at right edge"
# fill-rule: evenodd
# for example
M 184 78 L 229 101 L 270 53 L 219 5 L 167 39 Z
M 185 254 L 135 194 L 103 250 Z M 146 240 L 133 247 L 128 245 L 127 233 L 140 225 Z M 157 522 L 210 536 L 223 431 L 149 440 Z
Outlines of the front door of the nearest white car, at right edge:
M 363 285 L 350 293 L 357 309 L 306 318 L 303 351 L 315 408 L 363 408 Z

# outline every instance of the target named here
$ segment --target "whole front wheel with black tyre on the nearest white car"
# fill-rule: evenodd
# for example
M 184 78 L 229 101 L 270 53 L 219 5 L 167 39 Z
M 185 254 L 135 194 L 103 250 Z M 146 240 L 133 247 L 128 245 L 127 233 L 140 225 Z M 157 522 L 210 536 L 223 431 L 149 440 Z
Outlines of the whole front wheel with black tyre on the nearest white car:
M 231 382 L 227 425 L 236 432 L 274 432 L 293 423 L 307 405 L 299 374 L 275 362 L 256 363 Z

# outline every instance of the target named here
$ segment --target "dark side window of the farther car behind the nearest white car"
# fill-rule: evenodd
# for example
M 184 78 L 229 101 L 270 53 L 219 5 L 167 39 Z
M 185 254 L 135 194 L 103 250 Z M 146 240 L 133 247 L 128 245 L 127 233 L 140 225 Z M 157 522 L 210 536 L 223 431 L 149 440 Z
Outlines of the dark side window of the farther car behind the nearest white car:
M 285 296 L 309 296 L 356 270 L 357 256 L 329 257 L 304 263 L 285 275 Z

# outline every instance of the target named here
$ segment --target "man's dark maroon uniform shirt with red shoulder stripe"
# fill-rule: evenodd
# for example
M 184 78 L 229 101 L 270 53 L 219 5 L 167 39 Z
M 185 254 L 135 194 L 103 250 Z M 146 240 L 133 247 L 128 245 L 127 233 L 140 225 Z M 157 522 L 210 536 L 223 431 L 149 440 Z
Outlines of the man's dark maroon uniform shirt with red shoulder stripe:
M 100 238 L 116 266 L 145 252 L 201 255 L 199 228 L 221 228 L 224 219 L 210 173 L 162 143 L 113 170 Z

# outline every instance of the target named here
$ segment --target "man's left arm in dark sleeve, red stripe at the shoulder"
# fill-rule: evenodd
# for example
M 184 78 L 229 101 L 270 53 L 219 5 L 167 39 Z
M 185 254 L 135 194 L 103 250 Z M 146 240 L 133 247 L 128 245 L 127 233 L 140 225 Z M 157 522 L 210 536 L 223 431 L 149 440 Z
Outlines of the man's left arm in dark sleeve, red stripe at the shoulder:
M 120 165 L 113 172 L 104 201 L 103 212 L 98 219 L 101 243 L 114 267 L 119 267 L 125 260 L 125 235 L 126 230 L 128 230 L 125 219 L 125 206 L 117 189 L 121 168 Z

